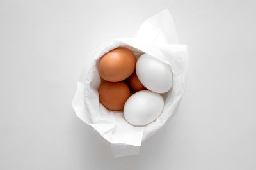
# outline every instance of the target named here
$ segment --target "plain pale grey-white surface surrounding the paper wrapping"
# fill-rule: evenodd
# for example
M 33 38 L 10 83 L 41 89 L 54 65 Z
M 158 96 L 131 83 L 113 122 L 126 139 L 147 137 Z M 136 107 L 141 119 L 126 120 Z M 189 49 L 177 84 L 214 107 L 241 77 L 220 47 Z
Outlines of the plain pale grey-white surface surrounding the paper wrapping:
M 179 114 L 113 159 L 71 101 L 86 55 L 172 13 L 189 48 Z M 256 169 L 255 1 L 0 1 L 0 169 Z

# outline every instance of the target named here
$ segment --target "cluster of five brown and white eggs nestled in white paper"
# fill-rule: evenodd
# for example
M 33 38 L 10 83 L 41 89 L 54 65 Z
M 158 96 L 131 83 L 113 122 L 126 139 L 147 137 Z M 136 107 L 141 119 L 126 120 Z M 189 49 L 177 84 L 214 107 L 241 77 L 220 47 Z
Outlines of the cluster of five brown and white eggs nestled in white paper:
M 170 66 L 147 53 L 138 60 L 127 48 L 115 48 L 99 62 L 103 81 L 99 87 L 99 101 L 112 111 L 124 110 L 124 117 L 132 125 L 153 122 L 164 107 L 161 93 L 172 88 Z M 132 94 L 133 93 L 133 94 Z

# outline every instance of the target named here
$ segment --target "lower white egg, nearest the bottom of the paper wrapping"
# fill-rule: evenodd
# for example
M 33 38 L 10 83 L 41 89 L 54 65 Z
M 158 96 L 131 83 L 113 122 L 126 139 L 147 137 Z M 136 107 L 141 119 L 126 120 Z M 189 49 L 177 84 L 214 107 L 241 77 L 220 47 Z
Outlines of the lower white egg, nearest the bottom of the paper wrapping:
M 132 94 L 124 105 L 124 117 L 132 125 L 147 125 L 156 120 L 164 107 L 160 94 L 141 90 Z

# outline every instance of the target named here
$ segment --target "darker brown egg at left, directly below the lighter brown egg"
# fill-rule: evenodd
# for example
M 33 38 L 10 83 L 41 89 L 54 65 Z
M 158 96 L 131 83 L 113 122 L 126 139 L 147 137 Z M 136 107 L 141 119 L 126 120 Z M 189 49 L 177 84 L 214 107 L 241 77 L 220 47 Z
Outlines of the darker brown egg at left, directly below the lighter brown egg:
M 130 89 L 124 81 L 118 83 L 104 81 L 99 87 L 100 103 L 109 110 L 122 110 L 130 96 Z

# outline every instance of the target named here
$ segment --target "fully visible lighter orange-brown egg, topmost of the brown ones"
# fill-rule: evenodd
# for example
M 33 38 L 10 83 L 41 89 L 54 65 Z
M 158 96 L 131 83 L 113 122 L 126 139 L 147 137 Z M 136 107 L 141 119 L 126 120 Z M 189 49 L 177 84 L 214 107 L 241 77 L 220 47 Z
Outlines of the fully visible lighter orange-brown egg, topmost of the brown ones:
M 126 48 L 115 48 L 106 53 L 99 63 L 100 76 L 110 82 L 125 80 L 135 69 L 135 55 Z

